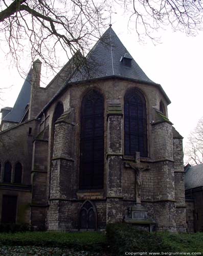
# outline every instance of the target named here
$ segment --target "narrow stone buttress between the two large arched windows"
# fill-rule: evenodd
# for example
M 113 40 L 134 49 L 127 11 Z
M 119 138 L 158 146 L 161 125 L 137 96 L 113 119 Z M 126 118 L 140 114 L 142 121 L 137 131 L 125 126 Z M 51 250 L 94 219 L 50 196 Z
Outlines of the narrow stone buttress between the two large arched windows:
M 108 102 L 106 223 L 122 222 L 122 123 L 119 102 Z

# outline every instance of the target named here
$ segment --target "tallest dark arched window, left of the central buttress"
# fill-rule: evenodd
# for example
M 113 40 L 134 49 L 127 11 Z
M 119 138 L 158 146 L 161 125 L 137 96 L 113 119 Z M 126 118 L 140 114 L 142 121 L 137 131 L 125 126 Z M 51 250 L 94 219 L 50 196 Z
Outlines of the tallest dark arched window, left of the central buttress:
M 82 100 L 80 130 L 80 188 L 103 188 L 104 99 L 98 91 Z

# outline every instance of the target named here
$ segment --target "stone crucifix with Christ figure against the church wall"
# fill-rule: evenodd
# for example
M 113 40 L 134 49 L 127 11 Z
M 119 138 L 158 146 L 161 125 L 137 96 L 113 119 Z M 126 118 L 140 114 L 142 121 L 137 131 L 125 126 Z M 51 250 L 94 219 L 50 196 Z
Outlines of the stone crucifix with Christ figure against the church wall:
M 150 169 L 150 166 L 149 164 L 140 162 L 140 152 L 136 152 L 134 161 L 126 161 L 125 166 L 130 167 L 134 170 L 134 179 L 135 179 L 134 194 L 136 198 L 136 203 L 141 204 L 142 172 L 144 170 Z

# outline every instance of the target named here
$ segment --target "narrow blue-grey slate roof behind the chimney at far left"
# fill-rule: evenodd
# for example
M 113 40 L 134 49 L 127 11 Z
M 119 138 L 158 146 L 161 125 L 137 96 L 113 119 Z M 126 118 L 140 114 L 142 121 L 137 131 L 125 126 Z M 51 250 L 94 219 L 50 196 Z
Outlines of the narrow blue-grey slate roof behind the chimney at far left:
M 30 69 L 26 80 L 15 101 L 13 109 L 3 118 L 3 121 L 19 123 L 25 113 L 26 106 L 30 102 L 32 69 Z

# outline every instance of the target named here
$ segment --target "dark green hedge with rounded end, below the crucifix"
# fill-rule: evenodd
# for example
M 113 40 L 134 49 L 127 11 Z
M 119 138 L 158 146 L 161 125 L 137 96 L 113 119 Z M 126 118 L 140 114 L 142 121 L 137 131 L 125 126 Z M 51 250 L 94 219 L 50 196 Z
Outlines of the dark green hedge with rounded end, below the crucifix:
M 116 255 L 125 255 L 125 252 L 203 252 L 203 233 L 149 233 L 121 223 L 107 225 L 106 236 Z

